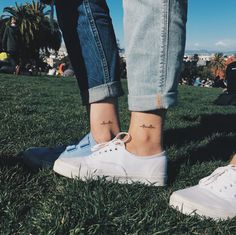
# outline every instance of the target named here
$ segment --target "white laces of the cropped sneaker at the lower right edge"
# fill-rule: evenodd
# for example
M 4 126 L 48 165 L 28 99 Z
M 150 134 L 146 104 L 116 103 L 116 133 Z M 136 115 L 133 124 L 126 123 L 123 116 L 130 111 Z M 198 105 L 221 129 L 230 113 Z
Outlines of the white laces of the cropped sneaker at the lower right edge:
M 236 176 L 236 166 L 228 165 L 225 167 L 217 168 L 211 175 L 201 179 L 199 181 L 199 185 L 207 186 L 212 183 L 215 183 L 219 179 L 219 177 L 221 177 L 222 175 L 224 175 L 227 172 L 232 172 Z M 234 182 L 236 182 L 236 179 L 234 180 Z M 225 182 L 225 183 L 227 183 L 227 182 Z

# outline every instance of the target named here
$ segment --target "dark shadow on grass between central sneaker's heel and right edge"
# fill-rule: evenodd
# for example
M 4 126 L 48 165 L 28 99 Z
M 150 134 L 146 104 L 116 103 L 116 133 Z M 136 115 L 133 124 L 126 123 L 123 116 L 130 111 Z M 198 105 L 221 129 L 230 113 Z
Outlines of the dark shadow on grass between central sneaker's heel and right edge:
M 233 133 L 233 134 L 232 134 Z M 214 160 L 228 161 L 236 151 L 236 114 L 212 114 L 201 116 L 200 124 L 183 129 L 171 129 L 165 132 L 166 146 L 174 145 L 177 149 L 191 147 L 194 142 L 209 138 L 205 145 L 190 148 L 186 154 L 176 154 L 169 164 L 169 181 L 172 183 L 184 163 Z

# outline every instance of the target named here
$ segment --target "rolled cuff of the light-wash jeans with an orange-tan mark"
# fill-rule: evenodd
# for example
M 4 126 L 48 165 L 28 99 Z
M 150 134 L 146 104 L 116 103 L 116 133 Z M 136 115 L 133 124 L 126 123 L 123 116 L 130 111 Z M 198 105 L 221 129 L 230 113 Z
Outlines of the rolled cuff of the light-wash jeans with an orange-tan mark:
M 146 112 L 157 109 L 168 109 L 177 104 L 178 92 L 167 94 L 128 96 L 129 110 L 136 112 Z

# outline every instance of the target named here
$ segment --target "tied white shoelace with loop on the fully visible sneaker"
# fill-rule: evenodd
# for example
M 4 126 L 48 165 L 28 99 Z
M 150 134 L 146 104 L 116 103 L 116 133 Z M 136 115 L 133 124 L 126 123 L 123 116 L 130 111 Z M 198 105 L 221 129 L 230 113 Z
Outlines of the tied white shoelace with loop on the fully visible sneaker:
M 124 136 L 124 138 L 122 138 L 122 136 Z M 101 143 L 101 144 L 96 144 L 95 146 L 93 146 L 91 148 L 91 151 L 92 152 L 96 152 L 98 150 L 104 149 L 104 148 L 106 148 L 108 146 L 111 146 L 111 145 L 115 145 L 115 146 L 120 145 L 120 146 L 122 146 L 125 143 L 127 143 L 130 139 L 131 139 L 131 136 L 130 136 L 129 133 L 127 133 L 127 132 L 120 132 L 111 141 L 105 142 L 105 143 Z

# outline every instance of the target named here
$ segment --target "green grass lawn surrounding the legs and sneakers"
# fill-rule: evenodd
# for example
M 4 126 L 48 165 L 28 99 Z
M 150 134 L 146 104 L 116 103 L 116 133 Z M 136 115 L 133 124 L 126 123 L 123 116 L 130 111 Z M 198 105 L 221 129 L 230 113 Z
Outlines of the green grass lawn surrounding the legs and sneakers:
M 26 169 L 20 151 L 79 139 L 89 131 L 86 112 L 75 79 L 0 75 L 0 234 L 236 234 L 236 218 L 201 220 L 168 206 L 174 190 L 196 184 L 236 150 L 236 107 L 215 106 L 221 92 L 179 88 L 165 126 L 169 184 L 158 188 Z M 126 97 L 120 105 L 127 130 Z

